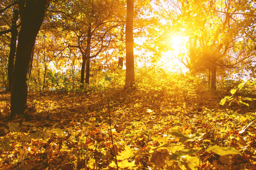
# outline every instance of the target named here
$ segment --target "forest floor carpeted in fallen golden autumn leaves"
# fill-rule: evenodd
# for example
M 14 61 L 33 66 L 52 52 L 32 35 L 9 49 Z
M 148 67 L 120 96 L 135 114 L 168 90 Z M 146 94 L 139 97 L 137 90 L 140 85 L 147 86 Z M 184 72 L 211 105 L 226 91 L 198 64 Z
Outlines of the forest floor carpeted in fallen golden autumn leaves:
M 223 97 L 30 92 L 25 116 L 10 120 L 3 91 L 0 169 L 256 169 L 255 101 Z

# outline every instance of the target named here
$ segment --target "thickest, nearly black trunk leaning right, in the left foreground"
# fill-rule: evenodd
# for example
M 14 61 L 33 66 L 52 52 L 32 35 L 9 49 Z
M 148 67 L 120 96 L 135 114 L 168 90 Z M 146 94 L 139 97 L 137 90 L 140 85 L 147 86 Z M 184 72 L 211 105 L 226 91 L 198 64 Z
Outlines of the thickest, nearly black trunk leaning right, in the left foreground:
M 24 114 L 27 108 L 28 67 L 36 36 L 43 23 L 49 2 L 49 0 L 19 0 L 21 28 L 11 90 L 11 117 L 15 114 Z

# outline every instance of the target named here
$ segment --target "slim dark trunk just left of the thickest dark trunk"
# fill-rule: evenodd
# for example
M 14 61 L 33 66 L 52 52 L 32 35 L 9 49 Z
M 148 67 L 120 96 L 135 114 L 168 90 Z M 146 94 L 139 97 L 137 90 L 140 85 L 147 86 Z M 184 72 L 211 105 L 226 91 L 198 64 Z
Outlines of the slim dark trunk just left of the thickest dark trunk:
M 13 17 L 11 22 L 11 44 L 10 44 L 10 54 L 8 60 L 8 91 L 11 91 L 12 86 L 12 76 L 14 69 L 14 57 L 16 53 L 16 41 L 18 36 L 17 25 L 16 22 L 18 20 L 18 9 L 14 8 Z

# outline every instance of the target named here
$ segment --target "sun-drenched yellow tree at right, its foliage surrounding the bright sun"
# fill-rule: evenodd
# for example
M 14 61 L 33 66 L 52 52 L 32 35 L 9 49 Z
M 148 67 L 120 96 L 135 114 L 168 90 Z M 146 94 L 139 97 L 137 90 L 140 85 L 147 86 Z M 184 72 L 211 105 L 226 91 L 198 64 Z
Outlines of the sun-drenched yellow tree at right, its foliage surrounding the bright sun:
M 255 23 L 253 2 L 163 0 L 156 5 L 164 7 L 162 13 L 158 12 L 162 23 L 158 29 L 163 31 L 158 41 L 154 41 L 157 48 L 167 50 L 173 35 L 187 36 L 187 52 L 180 54 L 179 59 L 194 75 L 209 73 L 213 90 L 218 70 L 228 70 L 251 57 L 245 37 Z M 174 15 L 163 15 L 166 13 Z

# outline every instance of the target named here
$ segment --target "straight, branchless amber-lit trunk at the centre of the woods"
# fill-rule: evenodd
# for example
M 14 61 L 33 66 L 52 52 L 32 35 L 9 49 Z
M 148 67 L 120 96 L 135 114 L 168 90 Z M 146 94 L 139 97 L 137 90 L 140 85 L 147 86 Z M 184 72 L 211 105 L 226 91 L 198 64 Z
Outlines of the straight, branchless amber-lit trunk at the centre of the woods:
M 127 0 L 127 18 L 125 27 L 126 76 L 125 88 L 132 87 L 135 82 L 133 56 L 133 0 Z

